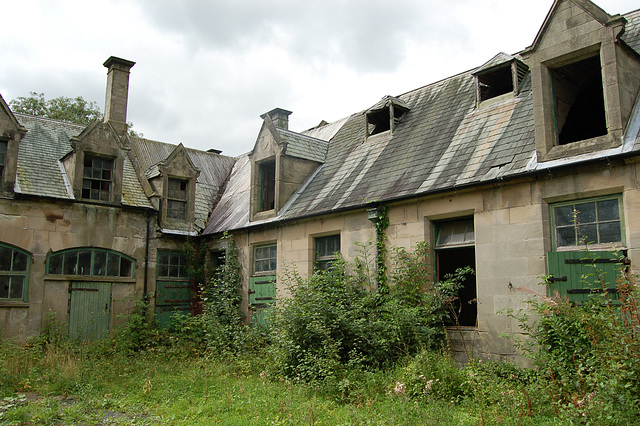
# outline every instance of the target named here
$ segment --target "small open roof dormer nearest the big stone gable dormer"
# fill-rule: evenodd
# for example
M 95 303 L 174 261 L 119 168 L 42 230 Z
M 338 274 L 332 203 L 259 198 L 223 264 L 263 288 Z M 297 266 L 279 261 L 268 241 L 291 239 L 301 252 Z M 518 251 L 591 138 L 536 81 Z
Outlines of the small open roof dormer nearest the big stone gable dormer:
M 478 102 L 508 93 L 517 95 L 528 71 L 529 68 L 515 57 L 503 53 L 497 55 L 474 73 Z

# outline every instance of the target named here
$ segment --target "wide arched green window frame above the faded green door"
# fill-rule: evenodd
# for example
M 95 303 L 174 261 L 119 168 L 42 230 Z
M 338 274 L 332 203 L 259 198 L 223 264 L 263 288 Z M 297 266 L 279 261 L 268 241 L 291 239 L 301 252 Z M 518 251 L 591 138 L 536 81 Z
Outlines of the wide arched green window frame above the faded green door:
M 77 273 L 78 269 L 79 269 L 79 264 L 81 262 L 80 256 L 81 253 L 86 256 L 86 253 L 90 253 L 90 266 L 89 266 L 89 271 L 88 273 Z M 74 257 L 75 254 L 75 268 L 74 268 L 74 273 L 65 273 L 67 271 L 67 268 L 70 268 L 70 266 L 66 265 L 66 262 L 68 260 L 72 260 L 72 258 Z M 102 254 L 104 254 L 104 274 L 98 274 L 96 273 L 96 265 L 98 264 L 98 262 L 96 261 L 97 256 L 102 256 Z M 56 266 L 52 266 L 52 261 L 55 261 L 54 258 L 56 258 L 57 256 L 62 256 L 62 261 L 60 263 L 60 272 L 53 272 L 52 271 L 52 267 L 56 268 L 55 270 L 57 270 Z M 117 257 L 118 260 L 118 275 L 113 275 L 113 274 L 109 274 L 110 272 L 110 259 L 113 259 L 114 257 Z M 68 259 L 68 260 L 67 260 Z M 86 259 L 86 258 L 85 258 Z M 128 275 L 122 275 L 122 268 L 123 268 L 123 259 L 126 260 L 127 262 L 129 262 L 129 274 Z M 46 269 L 45 269 L 45 274 L 48 276 L 48 278 L 51 277 L 56 277 L 56 276 L 74 276 L 74 277 L 87 277 L 87 278 L 91 278 L 93 279 L 108 279 L 113 281 L 114 279 L 116 280 L 121 280 L 121 279 L 135 279 L 135 275 L 136 275 L 136 260 L 131 257 L 128 256 L 124 253 L 120 253 L 117 252 L 115 250 L 110 250 L 110 249 L 103 249 L 103 248 L 96 248 L 96 247 L 74 247 L 71 249 L 65 249 L 65 250 L 59 250 L 56 252 L 51 252 L 47 255 L 47 261 L 46 261 Z

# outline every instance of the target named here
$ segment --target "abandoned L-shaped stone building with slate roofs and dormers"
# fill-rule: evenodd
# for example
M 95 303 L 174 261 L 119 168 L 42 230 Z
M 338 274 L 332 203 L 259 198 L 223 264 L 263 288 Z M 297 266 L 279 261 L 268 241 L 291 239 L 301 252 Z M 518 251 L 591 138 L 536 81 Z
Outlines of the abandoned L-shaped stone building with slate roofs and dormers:
M 475 269 L 459 295 L 473 352 L 523 361 L 501 336 L 520 332 L 504 313 L 526 308 L 518 289 L 586 297 L 586 243 L 611 291 L 613 250 L 632 271 L 640 259 L 640 10 L 556 0 L 520 52 L 303 132 L 276 108 L 238 158 L 128 135 L 133 63 L 104 65 L 103 122 L 14 114 L 0 99 L 6 337 L 37 335 L 51 313 L 97 338 L 143 294 L 161 321 L 188 312 L 182 249 L 207 242 L 212 262 L 225 231 L 260 321 L 286 296 L 287 265 L 353 259 L 384 206 L 387 244 L 428 242 L 435 280 Z

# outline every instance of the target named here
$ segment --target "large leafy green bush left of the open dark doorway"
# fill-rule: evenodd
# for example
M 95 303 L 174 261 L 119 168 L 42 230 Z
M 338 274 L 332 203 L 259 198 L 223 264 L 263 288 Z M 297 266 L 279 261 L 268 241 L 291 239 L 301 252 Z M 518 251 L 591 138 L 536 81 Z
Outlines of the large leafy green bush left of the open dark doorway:
M 302 277 L 288 271 L 290 296 L 273 316 L 281 372 L 304 382 L 336 380 L 354 369 L 392 366 L 444 341 L 443 309 L 424 270 L 421 252 L 395 252 L 391 291 L 376 291 L 366 262 L 337 260 Z M 401 253 L 399 256 L 397 253 Z

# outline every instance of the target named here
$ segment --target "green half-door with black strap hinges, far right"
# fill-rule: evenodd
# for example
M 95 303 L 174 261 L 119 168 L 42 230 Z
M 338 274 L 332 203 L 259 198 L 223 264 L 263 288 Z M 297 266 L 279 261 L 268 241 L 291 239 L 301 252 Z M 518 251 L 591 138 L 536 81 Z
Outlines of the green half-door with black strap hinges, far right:
M 557 290 L 560 296 L 576 303 L 585 302 L 590 294 L 603 291 L 609 294 L 611 300 L 617 300 L 617 279 L 623 263 L 620 254 L 615 252 L 549 252 L 549 290 L 551 294 Z

